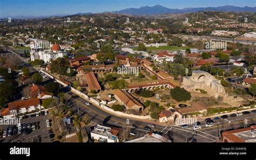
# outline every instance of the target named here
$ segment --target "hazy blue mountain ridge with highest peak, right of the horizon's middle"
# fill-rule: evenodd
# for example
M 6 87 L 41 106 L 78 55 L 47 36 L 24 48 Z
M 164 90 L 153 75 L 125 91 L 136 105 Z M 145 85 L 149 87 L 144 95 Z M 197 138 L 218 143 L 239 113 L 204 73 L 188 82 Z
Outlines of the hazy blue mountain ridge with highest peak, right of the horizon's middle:
M 169 9 L 161 5 L 155 6 L 142 6 L 139 9 L 130 8 L 120 11 L 114 11 L 113 13 L 123 13 L 131 15 L 152 15 L 161 13 L 191 13 L 198 11 L 222 11 L 222 12 L 256 12 L 256 7 L 239 7 L 232 5 L 207 7 L 207 8 L 185 8 L 185 9 Z

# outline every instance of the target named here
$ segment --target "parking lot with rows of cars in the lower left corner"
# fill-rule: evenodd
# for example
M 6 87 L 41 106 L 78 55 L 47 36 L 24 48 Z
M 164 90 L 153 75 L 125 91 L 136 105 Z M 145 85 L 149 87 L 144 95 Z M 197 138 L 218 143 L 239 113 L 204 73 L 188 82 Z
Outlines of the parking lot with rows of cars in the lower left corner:
M 50 121 L 50 127 L 47 127 L 46 120 Z M 32 129 L 32 125 L 36 128 Z M 11 136 L 6 135 L 0 139 L 0 142 L 52 142 L 49 134 L 52 121 L 49 119 L 49 114 L 39 115 L 38 117 L 30 117 L 21 120 L 21 133 L 18 134 L 18 127 L 14 125 L 3 125 L 1 129 L 12 128 Z M 7 132 L 9 133 L 9 132 Z

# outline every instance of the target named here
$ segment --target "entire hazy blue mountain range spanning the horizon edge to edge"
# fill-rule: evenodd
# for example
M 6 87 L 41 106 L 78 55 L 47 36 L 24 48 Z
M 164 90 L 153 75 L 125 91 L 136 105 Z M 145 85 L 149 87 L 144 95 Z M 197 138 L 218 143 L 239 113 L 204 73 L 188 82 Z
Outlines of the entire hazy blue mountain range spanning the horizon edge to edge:
M 129 8 L 120 11 L 113 11 L 111 13 L 118 14 L 130 14 L 132 16 L 140 16 L 140 15 L 153 15 L 153 14 L 163 14 L 163 13 L 192 13 L 198 11 L 221 11 L 221 12 L 256 12 L 256 7 L 239 7 L 232 5 L 218 6 L 218 7 L 206 7 L 206 8 L 184 8 L 184 9 L 169 9 L 161 5 L 154 6 L 142 6 L 141 8 Z M 107 12 L 102 12 L 107 13 Z M 84 14 L 92 14 L 91 12 L 86 13 L 76 13 L 79 15 Z M 32 19 L 32 18 L 47 18 L 47 17 L 64 17 L 69 16 L 71 14 L 53 14 L 51 16 L 13 16 L 11 18 L 18 19 Z M 73 14 L 72 14 L 73 15 Z M 0 18 L 8 18 L 8 17 L 0 17 Z

